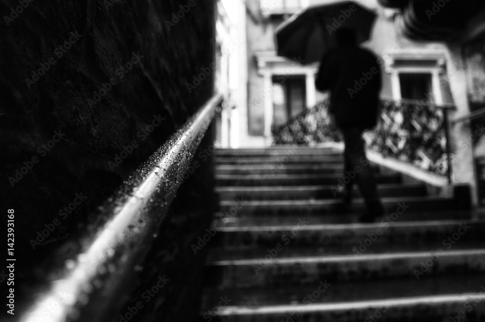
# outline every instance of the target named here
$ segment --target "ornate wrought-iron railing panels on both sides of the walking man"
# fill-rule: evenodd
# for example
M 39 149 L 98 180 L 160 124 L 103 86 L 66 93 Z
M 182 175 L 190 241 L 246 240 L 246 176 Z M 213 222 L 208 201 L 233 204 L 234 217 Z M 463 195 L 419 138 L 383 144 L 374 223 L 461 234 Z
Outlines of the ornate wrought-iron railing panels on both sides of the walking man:
M 274 144 L 311 145 L 341 141 L 328 115 L 328 101 L 274 128 Z M 378 125 L 366 133 L 368 146 L 385 156 L 451 176 L 448 116 L 452 105 L 422 104 L 417 100 L 381 100 Z

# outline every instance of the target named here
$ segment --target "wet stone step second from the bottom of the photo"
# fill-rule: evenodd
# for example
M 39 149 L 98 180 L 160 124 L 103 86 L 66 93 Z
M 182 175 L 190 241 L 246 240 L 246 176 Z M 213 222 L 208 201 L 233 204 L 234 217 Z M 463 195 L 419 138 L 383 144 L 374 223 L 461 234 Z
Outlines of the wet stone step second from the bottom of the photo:
M 285 248 L 220 251 L 211 249 L 206 285 L 224 288 L 279 287 L 318 283 L 485 274 L 485 241 L 458 241 L 369 247 L 362 254 L 349 248 Z M 392 282 L 390 282 L 392 283 Z M 392 285 L 392 284 L 390 284 Z

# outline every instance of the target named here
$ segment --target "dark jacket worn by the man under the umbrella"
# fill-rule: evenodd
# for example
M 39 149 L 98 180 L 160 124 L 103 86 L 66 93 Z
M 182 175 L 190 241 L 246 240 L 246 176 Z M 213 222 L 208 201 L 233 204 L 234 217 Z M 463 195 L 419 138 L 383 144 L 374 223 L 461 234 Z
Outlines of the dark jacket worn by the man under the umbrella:
M 339 128 L 375 126 L 382 87 L 377 57 L 358 46 L 328 51 L 322 59 L 315 86 L 330 90 L 330 112 Z

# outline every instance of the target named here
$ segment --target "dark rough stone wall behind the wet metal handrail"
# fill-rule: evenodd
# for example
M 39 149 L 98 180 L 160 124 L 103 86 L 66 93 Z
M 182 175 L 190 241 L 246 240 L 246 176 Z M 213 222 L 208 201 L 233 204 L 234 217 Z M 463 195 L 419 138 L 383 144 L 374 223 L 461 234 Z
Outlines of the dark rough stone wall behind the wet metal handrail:
M 210 79 L 186 83 L 210 66 L 215 39 L 215 0 L 194 0 L 178 20 L 189 0 L 29 1 L 0 1 L 0 189 L 2 211 L 15 209 L 25 292 L 51 251 L 210 98 Z M 163 120 L 150 132 L 154 115 Z M 210 178 L 209 160 L 184 183 L 141 274 L 140 288 L 171 279 L 151 302 L 163 321 L 194 313 L 181 305 L 196 298 L 202 259 L 190 243 L 208 225 Z M 144 312 L 137 319 L 158 314 Z

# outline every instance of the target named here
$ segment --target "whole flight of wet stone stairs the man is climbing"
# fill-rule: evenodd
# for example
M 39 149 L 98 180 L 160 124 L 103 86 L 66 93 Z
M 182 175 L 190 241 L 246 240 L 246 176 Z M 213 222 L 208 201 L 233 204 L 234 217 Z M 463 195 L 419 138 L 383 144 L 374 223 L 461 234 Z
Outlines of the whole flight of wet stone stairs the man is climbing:
M 334 197 L 329 148 L 221 149 L 199 321 L 485 322 L 485 221 L 375 167 L 386 216 Z M 205 236 L 205 238 L 207 238 Z

